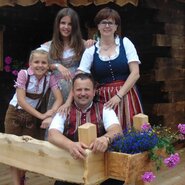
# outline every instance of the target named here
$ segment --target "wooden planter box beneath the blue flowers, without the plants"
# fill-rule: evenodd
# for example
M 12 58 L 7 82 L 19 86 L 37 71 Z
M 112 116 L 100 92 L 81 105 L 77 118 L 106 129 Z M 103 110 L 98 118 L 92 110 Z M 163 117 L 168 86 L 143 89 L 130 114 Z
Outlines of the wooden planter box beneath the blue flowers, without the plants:
M 125 154 L 107 152 L 107 176 L 109 178 L 125 181 L 126 185 L 144 185 L 141 175 L 153 169 L 148 153 Z

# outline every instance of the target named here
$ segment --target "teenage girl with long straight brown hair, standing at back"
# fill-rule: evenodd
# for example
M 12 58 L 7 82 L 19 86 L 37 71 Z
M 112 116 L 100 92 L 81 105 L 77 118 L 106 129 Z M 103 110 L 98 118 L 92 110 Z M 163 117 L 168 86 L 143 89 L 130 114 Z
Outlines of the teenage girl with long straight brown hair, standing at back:
M 85 47 L 92 46 L 94 41 L 85 42 L 82 39 L 79 18 L 71 8 L 63 8 L 55 18 L 52 41 L 41 45 L 41 48 L 49 50 L 50 69 L 58 80 L 64 102 L 63 112 L 67 111 L 72 98 L 70 94 L 71 80 L 79 66 Z M 48 101 L 48 109 L 53 105 L 54 96 L 51 93 Z M 65 108 L 66 107 L 66 108 Z M 48 121 L 48 124 L 51 120 Z

